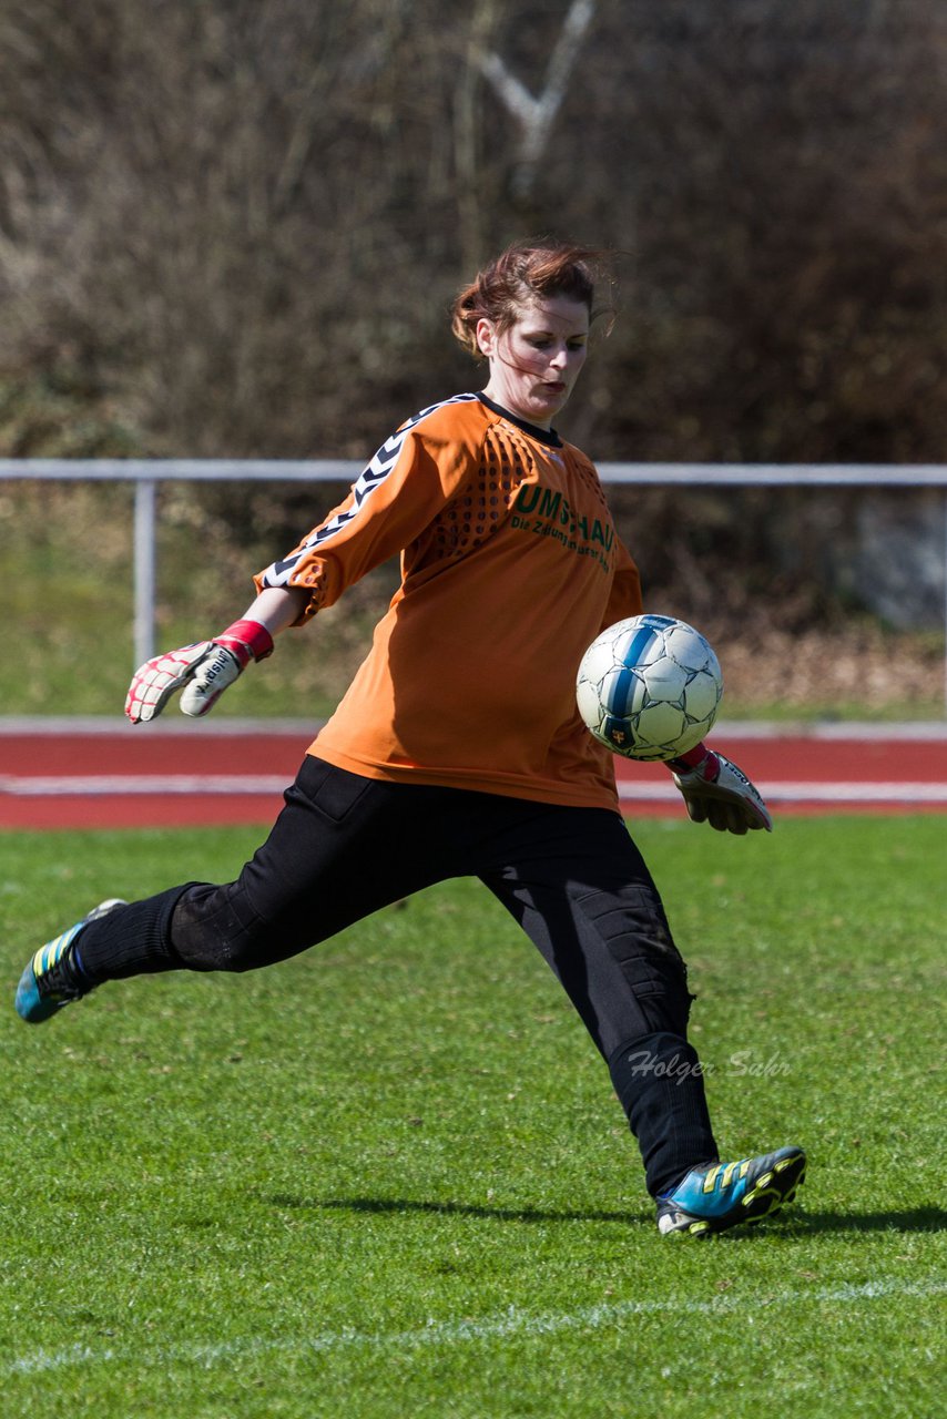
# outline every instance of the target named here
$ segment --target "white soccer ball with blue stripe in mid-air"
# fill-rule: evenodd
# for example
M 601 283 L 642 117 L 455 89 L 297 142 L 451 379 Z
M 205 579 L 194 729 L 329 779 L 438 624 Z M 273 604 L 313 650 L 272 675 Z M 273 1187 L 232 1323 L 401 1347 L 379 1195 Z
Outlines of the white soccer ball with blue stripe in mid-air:
M 713 650 L 673 616 L 632 616 L 582 656 L 575 694 L 592 735 L 628 759 L 674 759 L 700 744 L 723 695 Z

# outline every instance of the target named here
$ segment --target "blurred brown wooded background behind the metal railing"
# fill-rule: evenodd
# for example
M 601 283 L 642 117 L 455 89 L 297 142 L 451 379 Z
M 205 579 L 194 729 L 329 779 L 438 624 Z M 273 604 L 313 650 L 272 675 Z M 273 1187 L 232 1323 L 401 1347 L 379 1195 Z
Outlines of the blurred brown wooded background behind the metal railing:
M 941 461 L 946 77 L 940 0 L 3 0 L 0 453 L 368 457 L 477 387 L 451 297 L 548 234 L 612 253 L 592 457 Z M 787 631 L 870 603 L 859 519 L 904 515 L 616 505 L 650 585 L 775 579 Z

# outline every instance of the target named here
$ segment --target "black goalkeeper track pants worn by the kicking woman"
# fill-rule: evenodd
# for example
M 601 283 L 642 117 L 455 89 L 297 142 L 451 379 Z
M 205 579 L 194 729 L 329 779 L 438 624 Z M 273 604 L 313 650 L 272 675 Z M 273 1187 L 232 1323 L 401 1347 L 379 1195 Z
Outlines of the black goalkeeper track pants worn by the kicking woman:
M 687 972 L 650 873 L 608 809 L 383 783 L 307 756 L 234 883 L 176 887 L 91 922 L 82 966 L 97 983 L 253 971 L 450 877 L 478 877 L 562 982 L 609 1066 L 652 1193 L 716 1156 L 686 1042 Z

